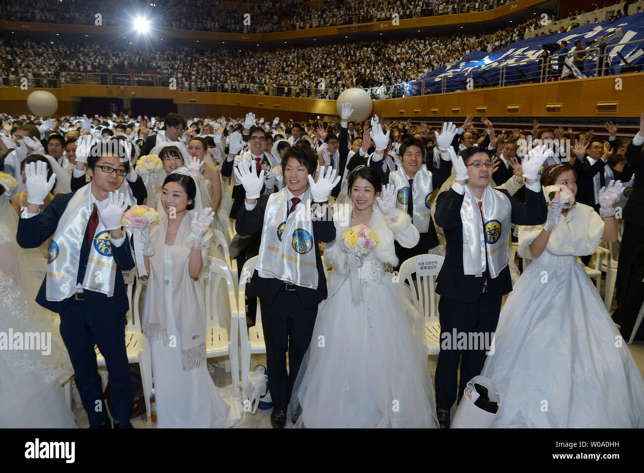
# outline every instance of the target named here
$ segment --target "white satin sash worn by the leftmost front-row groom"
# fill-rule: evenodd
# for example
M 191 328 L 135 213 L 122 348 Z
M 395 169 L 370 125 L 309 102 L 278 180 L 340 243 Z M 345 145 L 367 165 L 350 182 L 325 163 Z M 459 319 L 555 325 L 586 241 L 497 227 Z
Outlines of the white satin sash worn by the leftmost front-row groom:
M 96 205 L 100 205 L 100 202 Z M 92 210 L 89 183 L 77 190 L 70 199 L 49 245 L 45 279 L 48 301 L 64 301 L 76 292 L 79 255 Z M 109 232 L 99 219 L 81 286 L 84 290 L 111 297 L 114 295 L 116 274 L 117 265 L 112 255 Z

